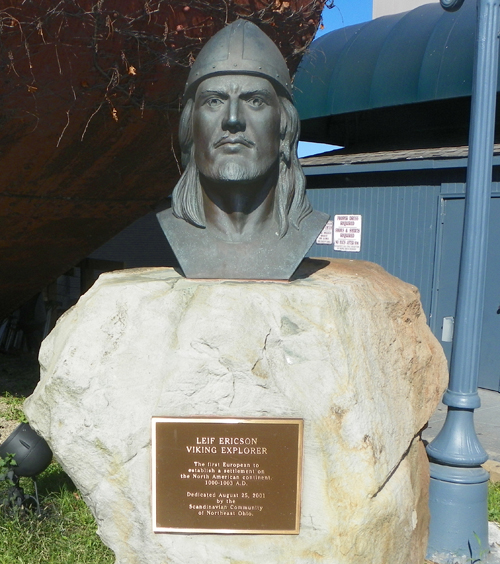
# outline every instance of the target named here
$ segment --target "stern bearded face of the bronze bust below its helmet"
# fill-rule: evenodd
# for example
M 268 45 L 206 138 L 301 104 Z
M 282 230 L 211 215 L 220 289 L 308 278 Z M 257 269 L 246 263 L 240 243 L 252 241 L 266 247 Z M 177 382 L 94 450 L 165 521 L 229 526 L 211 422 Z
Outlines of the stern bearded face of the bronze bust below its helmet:
M 266 177 L 279 161 L 280 102 L 258 76 L 222 75 L 200 83 L 194 100 L 194 157 L 219 181 Z

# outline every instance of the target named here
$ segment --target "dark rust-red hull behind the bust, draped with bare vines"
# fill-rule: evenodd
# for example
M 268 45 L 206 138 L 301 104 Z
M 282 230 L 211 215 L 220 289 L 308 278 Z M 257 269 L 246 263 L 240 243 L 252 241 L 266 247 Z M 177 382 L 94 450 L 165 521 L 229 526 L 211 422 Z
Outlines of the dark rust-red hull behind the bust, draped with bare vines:
M 322 0 L 0 0 L 0 319 L 161 204 L 189 67 L 238 17 L 293 72 Z

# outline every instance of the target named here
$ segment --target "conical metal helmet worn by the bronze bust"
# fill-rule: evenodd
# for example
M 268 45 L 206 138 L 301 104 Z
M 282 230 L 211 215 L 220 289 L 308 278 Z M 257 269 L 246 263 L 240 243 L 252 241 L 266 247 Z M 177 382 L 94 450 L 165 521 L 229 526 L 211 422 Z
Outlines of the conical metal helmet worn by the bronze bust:
M 236 20 L 207 42 L 191 67 L 184 90 L 184 102 L 194 96 L 202 80 L 221 74 L 249 74 L 267 78 L 278 94 L 292 101 L 290 73 L 283 55 L 252 22 Z

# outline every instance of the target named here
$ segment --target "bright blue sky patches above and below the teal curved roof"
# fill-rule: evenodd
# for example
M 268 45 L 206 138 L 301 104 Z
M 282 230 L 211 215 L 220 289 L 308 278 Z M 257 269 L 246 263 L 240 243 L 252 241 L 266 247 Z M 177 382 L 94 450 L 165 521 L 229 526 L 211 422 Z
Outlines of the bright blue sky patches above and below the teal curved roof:
M 327 2 L 329 4 L 329 2 Z M 323 26 L 316 38 L 341 27 L 367 22 L 372 19 L 372 0 L 335 0 L 333 8 L 323 10 Z M 323 143 L 299 143 L 299 157 L 306 157 L 334 149 L 333 145 Z

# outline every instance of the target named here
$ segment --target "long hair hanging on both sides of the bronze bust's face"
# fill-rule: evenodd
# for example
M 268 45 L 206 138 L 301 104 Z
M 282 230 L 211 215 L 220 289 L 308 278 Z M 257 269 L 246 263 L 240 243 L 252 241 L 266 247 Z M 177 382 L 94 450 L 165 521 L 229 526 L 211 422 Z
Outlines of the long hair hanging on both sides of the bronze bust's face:
M 297 156 L 300 135 L 299 115 L 295 106 L 283 96 L 279 97 L 280 120 L 280 163 L 275 192 L 279 236 L 284 237 L 290 224 L 299 229 L 301 221 L 312 212 L 306 196 L 306 179 Z M 172 212 L 197 227 L 206 227 L 203 211 L 200 177 L 194 161 L 193 108 L 190 98 L 181 114 L 179 143 L 182 151 L 184 173 L 172 193 Z

